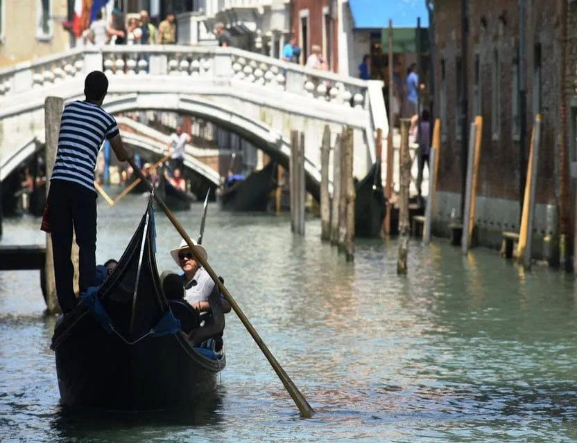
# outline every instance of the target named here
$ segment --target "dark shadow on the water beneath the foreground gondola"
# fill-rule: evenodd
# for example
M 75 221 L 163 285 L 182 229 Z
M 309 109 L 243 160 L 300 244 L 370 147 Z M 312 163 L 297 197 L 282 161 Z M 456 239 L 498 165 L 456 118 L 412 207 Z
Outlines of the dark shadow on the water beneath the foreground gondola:
M 154 388 L 152 388 L 154 389 Z M 221 423 L 223 393 L 216 392 L 191 408 L 150 411 L 79 410 L 59 406 L 51 419 L 54 435 L 64 441 L 74 441 L 90 436 L 103 441 L 127 441 L 127 431 L 135 440 L 144 434 L 166 434 L 167 428 L 214 427 Z

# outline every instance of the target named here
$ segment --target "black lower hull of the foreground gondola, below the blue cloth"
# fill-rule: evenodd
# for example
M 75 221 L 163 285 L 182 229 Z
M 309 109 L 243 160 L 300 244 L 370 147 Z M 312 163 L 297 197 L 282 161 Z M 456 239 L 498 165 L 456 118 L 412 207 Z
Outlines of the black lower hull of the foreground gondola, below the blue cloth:
M 195 406 L 214 393 L 218 371 L 225 365 L 224 356 L 208 359 L 180 333 L 128 345 L 88 311 L 64 334 L 55 347 L 58 386 L 62 404 L 74 408 Z

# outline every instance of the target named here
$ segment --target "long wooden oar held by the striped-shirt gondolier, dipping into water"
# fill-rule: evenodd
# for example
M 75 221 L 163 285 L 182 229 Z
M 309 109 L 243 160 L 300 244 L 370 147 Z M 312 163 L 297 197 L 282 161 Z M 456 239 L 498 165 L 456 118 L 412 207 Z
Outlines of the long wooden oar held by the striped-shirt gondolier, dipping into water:
M 150 185 L 150 182 L 146 179 L 146 177 L 144 177 L 144 174 L 142 174 L 141 170 L 139 170 L 136 167 L 135 161 L 133 159 L 130 159 L 130 160 L 128 160 L 128 163 L 130 163 L 132 168 L 134 168 L 135 172 L 138 174 L 138 176 L 140 177 L 142 182 L 146 184 L 146 187 L 148 188 L 148 190 L 150 190 L 150 192 L 153 192 L 152 185 Z M 293 398 L 293 401 L 295 402 L 295 404 L 298 406 L 302 417 L 304 417 L 304 418 L 312 417 L 314 410 L 313 410 L 313 408 L 311 408 L 311 406 L 307 402 L 307 399 L 304 398 L 304 395 L 302 395 L 300 390 L 298 390 L 298 388 L 295 386 L 295 383 L 293 383 L 291 378 L 288 377 L 288 374 L 286 374 L 286 372 L 284 372 L 284 369 L 279 364 L 277 359 L 275 359 L 275 357 L 270 352 L 270 350 L 268 350 L 268 347 L 265 345 L 264 341 L 262 341 L 262 338 L 259 336 L 255 327 L 253 327 L 250 324 L 250 321 L 248 320 L 248 318 L 246 318 L 246 315 L 243 313 L 243 311 L 241 310 L 239 305 L 236 304 L 236 302 L 234 301 L 234 298 L 232 298 L 232 296 L 230 295 L 230 292 L 225 288 L 225 285 L 221 282 L 221 280 L 218 280 L 218 275 L 216 275 L 216 273 L 214 272 L 212 267 L 202 257 L 202 255 L 200 255 L 198 253 L 198 251 L 196 251 L 196 246 L 193 244 L 192 240 L 190 239 L 189 235 L 184 230 L 184 228 L 182 227 L 180 222 L 174 217 L 173 213 L 171 213 L 169 208 L 166 207 L 166 205 L 164 204 L 164 201 L 162 201 L 162 199 L 160 199 L 160 197 L 158 197 L 156 192 L 154 193 L 154 198 L 157 201 L 157 203 L 160 205 L 160 208 L 162 208 L 162 210 L 166 214 L 166 217 L 169 217 L 169 220 L 171 221 L 173 226 L 176 228 L 176 230 L 178 230 L 178 233 L 180 234 L 182 239 L 184 239 L 184 241 L 187 242 L 187 245 L 189 246 L 190 250 L 192 251 L 194 257 L 196 258 L 196 261 L 199 262 L 200 264 L 202 264 L 204 266 L 204 268 L 207 270 L 207 272 L 209 273 L 212 280 L 214 280 L 214 283 L 218 286 L 218 289 L 220 289 L 221 293 L 223 293 L 223 296 L 225 296 L 225 299 L 228 302 L 228 304 L 230 305 L 230 307 L 232 307 L 232 309 L 234 309 L 234 312 L 236 312 L 236 315 L 239 316 L 244 327 L 246 327 L 248 333 L 250 334 L 250 336 L 252 336 L 252 339 L 261 348 L 261 351 L 264 354 L 264 356 L 266 356 L 268 363 L 270 363 L 270 365 L 273 366 L 273 369 L 277 373 L 279 379 L 282 381 L 282 384 L 284 384 L 284 387 L 286 388 L 288 393 Z

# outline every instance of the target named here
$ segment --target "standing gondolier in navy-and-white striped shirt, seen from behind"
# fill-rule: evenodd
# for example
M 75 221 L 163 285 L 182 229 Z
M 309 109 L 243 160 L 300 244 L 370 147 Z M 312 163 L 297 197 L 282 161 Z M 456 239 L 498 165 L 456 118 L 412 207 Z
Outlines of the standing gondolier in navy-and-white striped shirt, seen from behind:
M 132 158 L 123 147 L 114 117 L 101 108 L 108 80 L 101 71 L 86 76 L 84 101 L 64 107 L 60 120 L 58 151 L 48 197 L 54 276 L 58 303 L 66 314 L 76 307 L 71 248 L 74 233 L 79 252 L 80 293 L 96 280 L 96 190 L 94 168 L 98 150 L 110 141 L 119 161 Z

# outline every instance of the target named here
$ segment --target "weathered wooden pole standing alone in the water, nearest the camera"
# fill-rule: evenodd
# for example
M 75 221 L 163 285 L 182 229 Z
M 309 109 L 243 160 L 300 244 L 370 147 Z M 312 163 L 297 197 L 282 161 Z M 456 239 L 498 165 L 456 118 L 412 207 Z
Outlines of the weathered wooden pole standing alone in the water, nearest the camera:
M 408 188 L 411 184 L 411 153 L 408 151 L 408 127 L 411 119 L 401 119 L 401 150 L 399 152 L 399 257 L 397 274 L 406 274 L 408 254 Z

